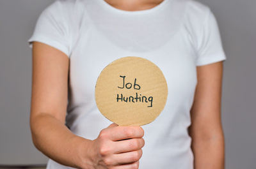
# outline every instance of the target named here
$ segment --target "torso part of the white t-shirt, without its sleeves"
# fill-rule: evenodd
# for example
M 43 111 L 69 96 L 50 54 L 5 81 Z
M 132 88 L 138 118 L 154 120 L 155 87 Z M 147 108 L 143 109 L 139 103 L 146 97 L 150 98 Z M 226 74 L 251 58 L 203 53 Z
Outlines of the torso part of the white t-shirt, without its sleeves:
M 77 10 L 80 17 L 75 15 L 72 20 L 77 24 L 70 54 L 68 128 L 84 138 L 97 138 L 111 124 L 95 103 L 97 77 L 120 57 L 143 57 L 163 71 L 168 98 L 159 117 L 142 126 L 145 147 L 140 168 L 193 169 L 187 129 L 197 80 L 187 0 L 164 0 L 142 11 L 124 11 L 127 9 L 114 8 L 103 0 L 77 2 L 77 8 L 83 5 L 83 10 Z M 61 168 L 54 161 L 50 166 Z

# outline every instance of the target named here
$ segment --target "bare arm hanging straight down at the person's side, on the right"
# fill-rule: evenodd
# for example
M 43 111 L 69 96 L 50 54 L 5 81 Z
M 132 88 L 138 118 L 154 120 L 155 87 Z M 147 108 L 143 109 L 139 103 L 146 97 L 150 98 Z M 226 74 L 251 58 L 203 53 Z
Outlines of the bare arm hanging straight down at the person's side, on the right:
M 221 126 L 223 62 L 197 66 L 198 84 L 191 108 L 191 149 L 195 169 L 223 169 L 225 141 Z

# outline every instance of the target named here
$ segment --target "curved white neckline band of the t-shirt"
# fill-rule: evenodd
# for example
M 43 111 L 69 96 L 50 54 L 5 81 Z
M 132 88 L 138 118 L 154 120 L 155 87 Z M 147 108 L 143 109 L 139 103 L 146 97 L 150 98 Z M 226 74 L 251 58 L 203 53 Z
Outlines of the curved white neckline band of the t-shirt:
M 125 15 L 138 15 L 138 14 L 143 14 L 143 13 L 152 13 L 154 11 L 159 11 L 163 6 L 169 1 L 169 0 L 163 0 L 161 3 L 157 4 L 153 8 L 149 8 L 147 10 L 137 10 L 137 11 L 127 11 L 127 10 L 120 10 L 118 8 L 115 8 L 114 6 L 111 6 L 104 0 L 98 0 L 102 6 L 104 6 L 107 10 L 120 13 L 120 14 L 125 14 Z

